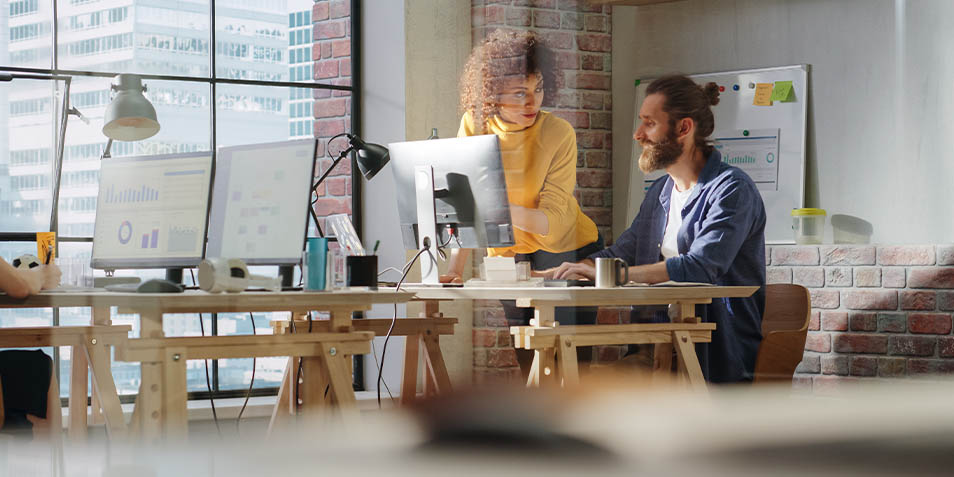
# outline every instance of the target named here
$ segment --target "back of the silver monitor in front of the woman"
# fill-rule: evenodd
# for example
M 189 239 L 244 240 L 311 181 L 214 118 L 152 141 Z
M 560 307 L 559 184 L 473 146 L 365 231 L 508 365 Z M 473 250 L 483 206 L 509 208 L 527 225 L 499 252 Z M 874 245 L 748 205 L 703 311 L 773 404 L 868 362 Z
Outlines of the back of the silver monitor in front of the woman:
M 388 148 L 405 248 L 418 248 L 415 169 L 419 167 L 433 170 L 439 245 L 484 248 L 514 244 L 496 135 L 398 142 Z

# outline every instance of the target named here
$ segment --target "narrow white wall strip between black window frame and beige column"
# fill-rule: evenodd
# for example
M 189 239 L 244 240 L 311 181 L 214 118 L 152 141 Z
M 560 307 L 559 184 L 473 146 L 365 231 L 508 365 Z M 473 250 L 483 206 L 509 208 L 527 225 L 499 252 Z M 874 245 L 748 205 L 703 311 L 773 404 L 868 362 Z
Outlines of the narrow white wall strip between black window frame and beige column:
M 361 132 L 366 141 L 387 146 L 404 140 L 404 2 L 368 0 L 361 2 Z M 363 179 L 362 179 L 363 180 Z M 365 244 L 381 240 L 378 269 L 404 266 L 404 244 L 398 233 L 394 178 L 390 165 L 362 187 L 362 230 Z M 397 280 L 393 272 L 383 278 Z M 403 305 L 398 316 L 405 316 Z M 391 318 L 393 306 L 375 306 L 372 318 Z M 381 355 L 383 338 L 374 348 Z M 401 388 L 404 338 L 391 338 L 385 359 L 384 379 L 391 391 Z M 372 356 L 365 359 L 365 389 L 377 389 L 378 372 Z M 383 393 L 382 395 L 386 396 Z

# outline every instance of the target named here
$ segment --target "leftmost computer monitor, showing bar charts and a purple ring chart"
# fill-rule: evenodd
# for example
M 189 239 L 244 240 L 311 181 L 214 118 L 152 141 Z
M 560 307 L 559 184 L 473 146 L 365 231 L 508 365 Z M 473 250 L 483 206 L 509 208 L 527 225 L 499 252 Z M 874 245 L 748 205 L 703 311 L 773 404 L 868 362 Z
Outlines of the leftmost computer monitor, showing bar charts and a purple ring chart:
M 212 152 L 103 160 L 92 268 L 194 267 L 205 244 Z

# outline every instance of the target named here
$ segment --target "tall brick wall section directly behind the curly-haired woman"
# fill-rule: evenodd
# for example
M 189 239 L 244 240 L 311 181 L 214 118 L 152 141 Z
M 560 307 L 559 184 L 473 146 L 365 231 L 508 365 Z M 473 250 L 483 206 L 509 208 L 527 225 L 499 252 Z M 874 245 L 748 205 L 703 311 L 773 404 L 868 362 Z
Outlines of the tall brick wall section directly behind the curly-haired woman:
M 503 28 L 541 34 L 557 57 L 558 97 L 549 110 L 569 121 L 577 136 L 577 189 L 583 212 L 605 240 L 612 224 L 612 94 L 610 7 L 576 0 L 472 0 L 473 42 Z M 478 254 L 479 255 L 479 254 Z M 601 310 L 601 323 L 618 323 L 619 310 Z M 628 319 L 628 313 L 625 314 Z M 513 344 L 499 302 L 474 304 L 474 377 L 517 379 Z M 618 359 L 620 348 L 594 353 Z

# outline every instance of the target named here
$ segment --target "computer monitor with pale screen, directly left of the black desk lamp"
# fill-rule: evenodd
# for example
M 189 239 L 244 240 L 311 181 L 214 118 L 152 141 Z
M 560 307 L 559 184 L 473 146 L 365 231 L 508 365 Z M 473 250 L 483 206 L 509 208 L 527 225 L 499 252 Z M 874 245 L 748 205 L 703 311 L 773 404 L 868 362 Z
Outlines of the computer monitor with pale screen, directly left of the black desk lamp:
M 206 256 L 299 263 L 316 148 L 314 139 L 219 148 Z

